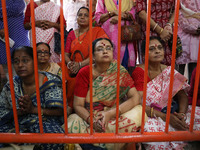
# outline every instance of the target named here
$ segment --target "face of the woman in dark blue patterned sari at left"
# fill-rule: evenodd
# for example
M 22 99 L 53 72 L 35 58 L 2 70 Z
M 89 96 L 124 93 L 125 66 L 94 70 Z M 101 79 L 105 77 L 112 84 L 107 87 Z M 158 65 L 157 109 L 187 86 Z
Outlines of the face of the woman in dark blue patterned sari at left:
M 17 50 L 14 54 L 14 68 L 19 77 L 34 74 L 33 58 L 25 50 Z

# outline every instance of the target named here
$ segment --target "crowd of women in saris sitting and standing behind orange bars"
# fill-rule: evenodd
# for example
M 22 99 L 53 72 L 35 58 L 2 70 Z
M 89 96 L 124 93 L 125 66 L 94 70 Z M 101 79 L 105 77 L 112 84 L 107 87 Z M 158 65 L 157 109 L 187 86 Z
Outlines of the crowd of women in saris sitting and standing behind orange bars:
M 11 2 L 12 1 L 12 2 Z M 174 0 L 153 0 L 151 2 L 150 42 L 148 58 L 147 96 L 145 109 L 145 132 L 164 132 L 168 105 L 171 73 L 171 47 L 174 22 Z M 89 1 L 87 1 L 88 3 Z M 67 85 L 67 114 L 69 133 L 90 133 L 90 67 L 93 76 L 93 130 L 100 133 L 114 133 L 116 117 L 119 118 L 119 132 L 138 132 L 141 126 L 144 56 L 146 51 L 146 0 L 122 0 L 121 25 L 131 24 L 132 18 L 141 24 L 142 39 L 121 43 L 120 62 L 118 54 L 118 0 L 97 0 L 93 7 L 92 54 L 93 65 L 89 66 L 89 9 L 80 7 L 77 11 L 77 28 L 68 32 L 65 43 L 66 72 L 61 70 L 60 53 L 54 51 L 54 33 L 60 31 L 60 8 L 50 0 L 34 2 L 36 50 L 39 71 L 41 114 L 45 133 L 64 133 L 62 80 Z M 21 7 L 15 8 L 15 3 Z M 32 48 L 32 23 L 30 4 L 24 14 L 23 0 L 6 0 L 8 7 L 9 37 L 15 41 L 11 50 L 17 115 L 20 132 L 39 133 L 35 71 Z M 88 4 L 86 5 L 88 6 Z M 16 11 L 15 11 L 16 10 Z M 19 14 L 17 14 L 19 13 Z M 24 17 L 25 15 L 25 17 Z M 182 42 L 182 54 L 176 60 L 178 71 L 174 70 L 174 86 L 169 131 L 189 130 L 191 104 L 196 75 L 198 42 L 200 38 L 200 3 L 197 0 L 181 0 L 178 36 Z M 2 8 L 0 17 L 2 17 Z M 17 19 L 20 23 L 15 21 Z M 67 21 L 67 18 L 64 18 Z M 66 27 L 66 23 L 64 23 Z M 15 29 L 16 28 L 16 29 Z M 29 30 L 29 38 L 28 31 Z M 20 33 L 18 33 L 20 32 Z M 20 34 L 20 36 L 18 35 Z M 17 36 L 18 35 L 18 36 Z M 4 38 L 3 21 L 0 20 L 0 37 Z M 23 37 L 23 38 L 22 38 Z M 30 42 L 29 42 L 30 41 Z M 6 79 L 5 43 L 0 56 L 1 84 Z M 138 55 L 138 56 L 137 56 Z M 136 65 L 137 57 L 139 64 Z M 119 116 L 117 103 L 117 63 L 120 63 Z M 189 63 L 189 79 L 182 75 Z M 193 71 L 194 70 L 194 71 Z M 193 72 L 192 72 L 193 71 Z M 180 73 L 179 73 L 180 72 Z M 66 78 L 62 79 L 65 73 Z M 181 74 L 182 73 L 182 74 Z M 15 132 L 10 83 L 0 89 L 0 132 Z M 199 85 L 200 88 L 200 85 Z M 200 90 L 195 109 L 194 130 L 200 130 Z M 148 142 L 145 149 L 183 149 L 188 142 Z M 6 144 L 0 144 L 5 147 Z M 81 144 L 82 149 L 125 149 L 127 144 Z M 64 144 L 39 144 L 35 149 L 64 149 Z

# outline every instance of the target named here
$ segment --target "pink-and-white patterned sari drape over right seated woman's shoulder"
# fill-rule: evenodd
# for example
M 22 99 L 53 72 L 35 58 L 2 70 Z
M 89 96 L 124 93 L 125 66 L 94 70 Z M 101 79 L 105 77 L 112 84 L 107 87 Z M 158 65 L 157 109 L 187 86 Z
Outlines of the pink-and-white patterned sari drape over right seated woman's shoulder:
M 146 97 L 147 106 L 153 105 L 158 110 L 161 110 L 167 106 L 169 96 L 170 74 L 171 67 L 167 67 L 156 78 L 148 82 Z M 174 86 L 172 90 L 172 97 L 174 97 L 180 90 L 184 90 L 187 93 L 190 86 L 186 83 L 186 81 L 187 79 L 183 75 L 174 70 Z

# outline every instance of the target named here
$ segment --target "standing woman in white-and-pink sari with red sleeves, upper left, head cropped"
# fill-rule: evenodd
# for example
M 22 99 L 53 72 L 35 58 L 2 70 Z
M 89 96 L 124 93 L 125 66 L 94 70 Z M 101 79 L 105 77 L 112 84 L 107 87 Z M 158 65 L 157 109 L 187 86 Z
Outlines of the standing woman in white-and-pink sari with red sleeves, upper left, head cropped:
M 60 31 L 60 7 L 50 0 L 34 2 L 36 43 L 45 42 L 51 47 L 51 62 L 60 62 L 60 54 L 54 52 L 54 32 Z M 27 5 L 24 19 L 24 28 L 30 30 L 30 41 L 32 43 L 31 9 Z M 64 23 L 66 21 L 64 20 Z

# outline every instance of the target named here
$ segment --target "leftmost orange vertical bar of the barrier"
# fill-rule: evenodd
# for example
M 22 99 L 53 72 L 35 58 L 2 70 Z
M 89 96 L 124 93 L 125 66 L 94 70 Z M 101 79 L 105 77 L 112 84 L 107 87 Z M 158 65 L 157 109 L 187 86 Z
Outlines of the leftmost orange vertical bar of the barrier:
M 10 57 L 11 55 L 10 55 L 10 45 L 9 45 L 6 1 L 2 0 L 1 4 L 2 4 L 2 13 L 3 13 L 4 32 L 5 32 L 5 44 L 6 44 L 7 63 L 8 63 L 8 75 L 9 75 L 9 81 L 10 81 L 10 92 L 11 92 L 13 115 L 14 115 L 14 122 L 15 122 L 15 132 L 18 134 L 19 133 L 19 124 L 18 124 L 18 116 L 17 116 L 17 109 L 16 109 L 16 101 L 15 101 L 15 91 L 14 91 L 13 76 L 12 76 L 12 64 L 11 64 L 11 57 Z

